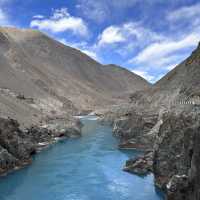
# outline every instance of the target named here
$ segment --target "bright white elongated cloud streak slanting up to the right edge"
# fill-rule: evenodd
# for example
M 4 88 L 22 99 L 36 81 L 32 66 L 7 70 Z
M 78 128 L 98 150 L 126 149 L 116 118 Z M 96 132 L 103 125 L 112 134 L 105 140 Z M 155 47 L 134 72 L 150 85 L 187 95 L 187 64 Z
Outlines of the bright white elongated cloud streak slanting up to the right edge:
M 147 64 L 152 67 L 155 67 L 155 65 L 159 67 L 171 64 L 170 62 L 172 61 L 177 62 L 177 54 L 175 54 L 177 51 L 184 50 L 189 47 L 195 47 L 199 40 L 200 35 L 192 33 L 179 41 L 165 40 L 163 42 L 152 43 L 129 62 Z

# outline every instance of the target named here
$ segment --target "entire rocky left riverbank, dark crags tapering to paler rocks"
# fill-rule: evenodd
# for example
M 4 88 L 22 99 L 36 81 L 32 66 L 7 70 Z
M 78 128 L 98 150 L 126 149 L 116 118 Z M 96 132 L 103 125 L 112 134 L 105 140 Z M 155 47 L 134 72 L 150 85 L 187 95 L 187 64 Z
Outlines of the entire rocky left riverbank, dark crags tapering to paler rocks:
M 81 123 L 71 118 L 21 129 L 13 119 L 0 118 L 0 175 L 28 165 L 32 156 L 50 144 L 81 136 Z

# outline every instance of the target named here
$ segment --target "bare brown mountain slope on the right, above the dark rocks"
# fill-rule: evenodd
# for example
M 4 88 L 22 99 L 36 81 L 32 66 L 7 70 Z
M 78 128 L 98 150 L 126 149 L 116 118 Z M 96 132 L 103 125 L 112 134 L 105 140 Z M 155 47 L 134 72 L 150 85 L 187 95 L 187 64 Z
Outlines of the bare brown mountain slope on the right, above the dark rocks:
M 150 89 L 131 95 L 144 109 L 171 108 L 200 97 L 200 45 L 195 51 Z

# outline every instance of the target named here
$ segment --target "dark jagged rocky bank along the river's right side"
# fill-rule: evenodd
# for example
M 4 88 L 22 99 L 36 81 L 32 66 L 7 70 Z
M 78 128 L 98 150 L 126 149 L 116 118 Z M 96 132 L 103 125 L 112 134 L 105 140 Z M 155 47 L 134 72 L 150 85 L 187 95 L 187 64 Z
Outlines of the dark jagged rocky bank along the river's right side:
M 124 170 L 141 176 L 153 173 L 167 200 L 200 199 L 200 112 L 165 111 L 157 121 L 141 116 L 134 113 L 113 123 L 116 136 L 129 138 L 120 146 L 144 150 L 144 156 L 128 160 Z

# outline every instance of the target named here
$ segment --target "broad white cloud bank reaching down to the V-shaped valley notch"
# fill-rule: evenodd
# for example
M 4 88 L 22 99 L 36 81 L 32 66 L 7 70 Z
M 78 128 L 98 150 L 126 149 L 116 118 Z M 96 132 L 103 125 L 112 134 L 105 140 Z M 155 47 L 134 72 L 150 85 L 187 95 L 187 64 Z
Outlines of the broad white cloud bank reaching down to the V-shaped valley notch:
M 129 63 L 137 66 L 133 71 L 153 83 L 188 57 L 199 40 L 200 36 L 196 33 L 179 40 L 166 38 L 162 42 L 149 44 L 130 59 Z

